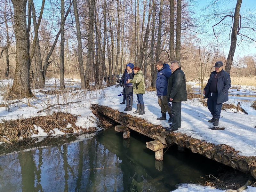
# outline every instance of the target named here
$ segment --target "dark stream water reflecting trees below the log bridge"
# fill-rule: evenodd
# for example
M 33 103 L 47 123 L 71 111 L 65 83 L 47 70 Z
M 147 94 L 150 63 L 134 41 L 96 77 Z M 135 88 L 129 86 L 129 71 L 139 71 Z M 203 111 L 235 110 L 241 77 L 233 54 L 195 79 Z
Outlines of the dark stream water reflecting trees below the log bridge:
M 174 145 L 155 160 L 152 139 L 114 127 L 91 138 L 70 136 L 0 145 L 0 191 L 171 191 L 180 183 L 204 184 L 205 175 L 231 168 Z M 41 144 L 40 144 L 41 143 Z

